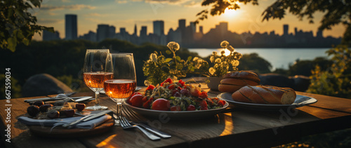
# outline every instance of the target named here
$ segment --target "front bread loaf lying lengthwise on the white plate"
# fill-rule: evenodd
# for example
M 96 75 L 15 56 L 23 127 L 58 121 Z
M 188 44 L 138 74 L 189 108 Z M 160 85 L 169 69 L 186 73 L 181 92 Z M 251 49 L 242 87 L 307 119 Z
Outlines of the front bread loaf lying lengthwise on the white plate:
M 296 99 L 295 90 L 275 86 L 244 86 L 232 94 L 237 102 L 269 105 L 291 105 Z

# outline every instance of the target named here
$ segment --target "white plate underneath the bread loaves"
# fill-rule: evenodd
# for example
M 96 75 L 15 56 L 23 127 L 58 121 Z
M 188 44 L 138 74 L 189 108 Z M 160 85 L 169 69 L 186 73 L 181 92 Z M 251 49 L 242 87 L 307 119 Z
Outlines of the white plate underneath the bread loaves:
M 295 102 L 292 105 L 265 105 L 265 104 L 255 104 L 246 102 L 237 102 L 232 100 L 232 93 L 220 93 L 217 95 L 218 98 L 226 100 L 232 105 L 241 107 L 244 109 L 259 109 L 259 110 L 277 110 L 277 109 L 287 109 L 287 108 L 297 108 L 303 107 L 305 105 L 311 105 L 317 102 L 317 99 L 313 97 L 307 97 L 305 95 L 296 95 Z

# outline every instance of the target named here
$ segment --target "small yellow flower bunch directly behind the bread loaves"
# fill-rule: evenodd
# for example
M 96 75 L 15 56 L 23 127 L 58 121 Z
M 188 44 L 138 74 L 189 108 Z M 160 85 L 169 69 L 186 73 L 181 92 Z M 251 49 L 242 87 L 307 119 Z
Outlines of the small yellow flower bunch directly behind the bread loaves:
M 210 62 L 213 67 L 208 69 L 208 76 L 221 77 L 227 74 L 227 72 L 238 70 L 237 66 L 239 66 L 239 60 L 242 57 L 241 53 L 236 52 L 227 41 L 222 41 L 220 46 L 224 48 L 224 50 L 220 52 L 220 55 L 218 55 L 216 51 L 213 51 L 210 56 Z M 230 53 L 226 55 L 225 49 L 230 51 Z

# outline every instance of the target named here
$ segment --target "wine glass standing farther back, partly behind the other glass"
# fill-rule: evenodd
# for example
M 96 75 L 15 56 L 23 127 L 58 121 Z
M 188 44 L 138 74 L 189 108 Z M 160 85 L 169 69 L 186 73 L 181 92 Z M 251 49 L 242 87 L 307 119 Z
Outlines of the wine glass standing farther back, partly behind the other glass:
M 99 94 L 104 88 L 104 81 L 112 79 L 112 72 L 106 72 L 106 60 L 110 50 L 87 49 L 84 59 L 83 79 L 86 86 L 95 92 L 95 106 L 86 109 L 103 110 L 107 107 L 100 106 Z

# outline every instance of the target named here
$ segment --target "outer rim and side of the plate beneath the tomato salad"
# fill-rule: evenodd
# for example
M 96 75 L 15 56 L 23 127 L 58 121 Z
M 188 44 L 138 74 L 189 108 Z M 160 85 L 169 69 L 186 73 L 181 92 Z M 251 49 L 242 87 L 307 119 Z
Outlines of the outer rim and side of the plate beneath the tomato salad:
M 124 102 L 129 109 L 137 112 L 138 114 L 142 114 L 145 116 L 150 116 L 154 119 L 167 119 L 168 117 L 171 119 L 201 119 L 205 117 L 214 116 L 220 112 L 222 112 L 225 108 L 229 106 L 228 102 L 225 102 L 225 105 L 219 109 L 208 109 L 208 110 L 199 110 L 199 111 L 159 111 L 152 109 L 143 109 L 139 107 L 133 107 L 128 105 L 128 103 Z

